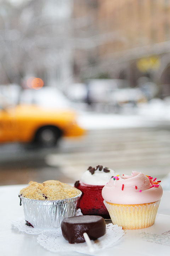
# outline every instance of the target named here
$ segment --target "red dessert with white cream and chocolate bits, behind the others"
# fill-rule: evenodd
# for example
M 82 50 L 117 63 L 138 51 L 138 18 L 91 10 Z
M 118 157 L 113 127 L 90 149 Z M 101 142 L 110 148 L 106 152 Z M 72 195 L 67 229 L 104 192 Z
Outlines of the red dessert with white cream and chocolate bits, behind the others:
M 116 175 L 115 171 L 102 165 L 95 168 L 90 166 L 81 180 L 75 182 L 74 186 L 83 192 L 77 205 L 83 215 L 100 215 L 105 219 L 110 218 L 103 203 L 102 188 Z

